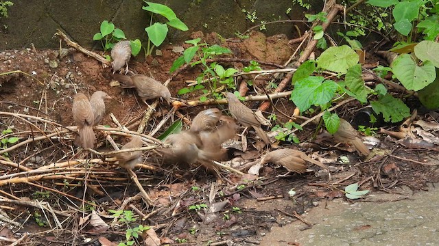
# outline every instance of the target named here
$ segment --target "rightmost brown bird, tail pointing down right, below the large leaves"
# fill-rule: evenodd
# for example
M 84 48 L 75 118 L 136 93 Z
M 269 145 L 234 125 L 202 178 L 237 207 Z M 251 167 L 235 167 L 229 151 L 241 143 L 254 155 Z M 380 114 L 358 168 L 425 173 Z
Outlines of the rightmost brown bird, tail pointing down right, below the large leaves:
M 338 131 L 333 134 L 335 141 L 340 143 L 345 143 L 348 145 L 353 145 L 358 154 L 367 156 L 370 151 L 366 145 L 358 137 L 359 133 L 347 122 L 346 120 L 340 119 L 340 126 Z

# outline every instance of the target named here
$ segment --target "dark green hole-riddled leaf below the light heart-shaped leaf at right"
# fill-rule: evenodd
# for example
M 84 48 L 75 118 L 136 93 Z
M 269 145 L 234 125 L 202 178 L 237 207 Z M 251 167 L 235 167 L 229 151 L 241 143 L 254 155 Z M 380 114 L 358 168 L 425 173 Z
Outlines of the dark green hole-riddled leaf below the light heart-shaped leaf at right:
M 385 94 L 377 101 L 371 101 L 373 111 L 375 113 L 383 113 L 385 122 L 400 122 L 404 118 L 410 116 L 410 109 L 399 98 L 394 98 L 390 94 Z

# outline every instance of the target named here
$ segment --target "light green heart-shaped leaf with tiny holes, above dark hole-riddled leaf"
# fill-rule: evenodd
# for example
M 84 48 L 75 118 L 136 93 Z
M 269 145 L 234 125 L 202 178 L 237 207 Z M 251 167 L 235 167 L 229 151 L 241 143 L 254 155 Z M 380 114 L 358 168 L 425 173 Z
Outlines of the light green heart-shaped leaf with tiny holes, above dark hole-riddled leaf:
M 409 54 L 396 57 L 390 67 L 407 90 L 421 90 L 436 78 L 436 70 L 431 61 L 425 61 L 423 66 L 418 66 Z

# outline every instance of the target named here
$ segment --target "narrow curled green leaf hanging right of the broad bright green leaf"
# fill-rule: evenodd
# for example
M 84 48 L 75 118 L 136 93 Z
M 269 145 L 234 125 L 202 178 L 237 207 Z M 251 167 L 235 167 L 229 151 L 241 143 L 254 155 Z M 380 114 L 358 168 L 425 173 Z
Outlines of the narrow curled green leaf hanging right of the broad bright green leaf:
M 364 80 L 361 77 L 361 65 L 357 64 L 348 69 L 344 78 L 346 86 L 355 94 L 355 98 L 361 103 L 367 102 L 368 88 L 364 85 Z

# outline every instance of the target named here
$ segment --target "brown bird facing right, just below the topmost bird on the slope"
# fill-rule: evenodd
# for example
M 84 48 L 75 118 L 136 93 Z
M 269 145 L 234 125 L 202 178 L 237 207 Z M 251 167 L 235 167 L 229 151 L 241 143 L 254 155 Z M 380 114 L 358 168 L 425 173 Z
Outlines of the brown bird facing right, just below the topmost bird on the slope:
M 122 88 L 136 88 L 137 94 L 142 98 L 143 102 L 154 98 L 163 98 L 169 104 L 171 99 L 171 92 L 165 85 L 141 74 L 123 75 L 115 74 L 115 79 L 123 85 Z M 148 105 L 149 107 L 149 105 Z

